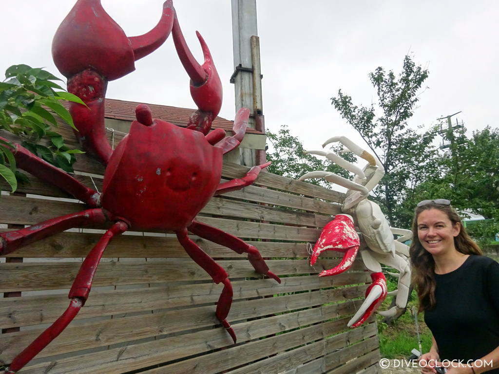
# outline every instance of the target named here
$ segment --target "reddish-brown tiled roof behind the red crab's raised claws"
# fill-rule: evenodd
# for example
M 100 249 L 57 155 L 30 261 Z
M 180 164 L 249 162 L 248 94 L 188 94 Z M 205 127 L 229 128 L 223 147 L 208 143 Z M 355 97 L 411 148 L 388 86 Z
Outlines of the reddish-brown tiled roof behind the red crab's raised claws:
M 106 118 L 132 122 L 135 120 L 135 107 L 139 104 L 147 103 L 106 98 Z M 195 111 L 195 109 L 177 108 L 167 105 L 147 105 L 149 106 L 149 108 L 151 108 L 153 118 L 168 121 L 177 126 L 183 127 L 185 127 L 187 122 L 189 121 L 189 116 L 191 115 L 191 113 Z M 221 128 L 226 131 L 230 131 L 232 130 L 233 124 L 234 121 L 229 121 L 225 118 L 217 117 L 212 123 L 212 128 Z M 260 131 L 256 131 L 254 129 L 247 129 L 246 132 L 248 134 L 262 134 Z

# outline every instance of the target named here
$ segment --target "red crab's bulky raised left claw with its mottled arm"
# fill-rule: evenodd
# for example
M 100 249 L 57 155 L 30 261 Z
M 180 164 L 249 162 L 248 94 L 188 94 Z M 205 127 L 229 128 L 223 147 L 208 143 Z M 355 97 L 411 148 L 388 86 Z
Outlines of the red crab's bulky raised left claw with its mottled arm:
M 171 0 L 163 4 L 158 24 L 140 36 L 127 37 L 106 13 L 100 0 L 78 0 L 52 40 L 52 58 L 68 78 L 67 89 L 85 104 L 69 103 L 76 138 L 107 164 L 112 149 L 106 139 L 104 99 L 107 82 L 135 70 L 135 61 L 157 49 L 173 26 Z

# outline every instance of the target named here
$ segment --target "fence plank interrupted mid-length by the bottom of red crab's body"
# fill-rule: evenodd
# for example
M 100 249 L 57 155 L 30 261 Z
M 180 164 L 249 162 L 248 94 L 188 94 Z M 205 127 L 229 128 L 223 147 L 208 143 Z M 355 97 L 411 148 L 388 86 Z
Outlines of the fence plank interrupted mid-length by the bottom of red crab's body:
M 22 196 L 2 196 L 0 200 L 0 222 L 10 224 L 33 225 L 60 215 L 79 212 L 85 209 L 85 205 L 39 198 L 27 198 Z M 258 239 L 282 239 L 282 240 L 317 240 L 320 230 L 307 227 L 292 227 L 268 223 L 234 221 L 223 218 L 212 218 L 198 216 L 200 222 L 215 226 L 222 231 L 239 237 Z M 94 228 L 105 228 L 105 225 L 92 226 Z

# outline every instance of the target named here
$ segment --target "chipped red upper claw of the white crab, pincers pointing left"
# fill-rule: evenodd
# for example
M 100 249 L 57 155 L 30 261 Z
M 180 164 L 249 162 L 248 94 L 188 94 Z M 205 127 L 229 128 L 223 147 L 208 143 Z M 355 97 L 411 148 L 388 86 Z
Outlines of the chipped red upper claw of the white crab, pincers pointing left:
M 359 250 L 360 239 L 353 219 L 348 214 L 337 214 L 334 219 L 327 223 L 320 237 L 315 243 L 310 257 L 310 265 L 314 265 L 319 255 L 325 250 L 335 250 L 345 253 L 341 262 L 330 270 L 323 270 L 319 277 L 336 275 L 342 273 L 352 266 L 357 251 Z

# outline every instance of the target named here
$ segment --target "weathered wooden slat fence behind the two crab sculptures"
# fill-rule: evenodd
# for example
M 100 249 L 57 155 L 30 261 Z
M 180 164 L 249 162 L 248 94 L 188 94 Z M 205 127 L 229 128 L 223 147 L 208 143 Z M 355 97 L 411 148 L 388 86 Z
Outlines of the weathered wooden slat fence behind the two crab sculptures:
M 65 138 L 76 147 L 69 132 Z M 226 163 L 223 178 L 242 177 L 248 169 Z M 97 162 L 79 155 L 75 170 L 84 184 L 101 189 L 104 170 Z M 16 195 L 2 192 L 0 230 L 85 208 L 28 177 L 29 185 Z M 339 259 L 323 258 L 314 268 L 307 260 L 307 242 L 314 243 L 340 211 L 342 198 L 262 172 L 253 186 L 214 197 L 202 210 L 201 222 L 255 245 L 282 279 L 262 279 L 245 256 L 191 236 L 230 274 L 228 320 L 236 345 L 215 317 L 222 286 L 189 258 L 175 235 L 127 232 L 108 246 L 76 319 L 20 373 L 380 373 L 374 320 L 346 327 L 370 281 L 362 262 L 319 278 Z M 0 258 L 1 362 L 9 363 L 67 307 L 81 261 L 106 227 L 77 227 Z

